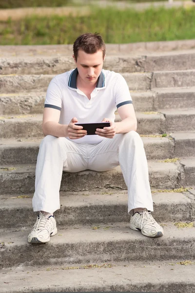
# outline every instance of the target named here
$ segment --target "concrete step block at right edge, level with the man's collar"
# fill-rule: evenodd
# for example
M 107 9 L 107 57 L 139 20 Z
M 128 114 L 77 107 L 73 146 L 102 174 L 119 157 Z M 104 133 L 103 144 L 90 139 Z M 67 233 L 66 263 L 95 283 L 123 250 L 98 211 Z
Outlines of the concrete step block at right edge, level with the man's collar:
M 195 70 L 154 72 L 152 88 L 195 85 Z

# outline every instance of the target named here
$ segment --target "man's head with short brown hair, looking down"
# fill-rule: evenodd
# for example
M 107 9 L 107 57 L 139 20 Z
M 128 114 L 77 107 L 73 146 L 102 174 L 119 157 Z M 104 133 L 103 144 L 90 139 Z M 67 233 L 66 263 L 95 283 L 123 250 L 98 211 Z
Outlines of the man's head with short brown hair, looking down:
M 105 58 L 105 43 L 101 36 L 97 33 L 80 35 L 74 42 L 73 51 L 80 81 L 86 85 L 96 84 Z

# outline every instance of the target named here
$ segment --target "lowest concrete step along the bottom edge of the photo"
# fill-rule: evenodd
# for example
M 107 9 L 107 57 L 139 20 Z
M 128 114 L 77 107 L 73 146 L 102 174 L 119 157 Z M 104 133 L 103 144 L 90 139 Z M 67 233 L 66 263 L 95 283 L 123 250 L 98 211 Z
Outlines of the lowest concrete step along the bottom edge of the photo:
M 185 258 L 184 258 L 185 259 Z M 2 293 L 195 292 L 195 261 L 83 263 L 0 270 Z M 28 283 L 27 283 L 28 280 Z M 64 282 L 64 280 L 66 280 Z M 89 282 L 90 280 L 90 282 Z

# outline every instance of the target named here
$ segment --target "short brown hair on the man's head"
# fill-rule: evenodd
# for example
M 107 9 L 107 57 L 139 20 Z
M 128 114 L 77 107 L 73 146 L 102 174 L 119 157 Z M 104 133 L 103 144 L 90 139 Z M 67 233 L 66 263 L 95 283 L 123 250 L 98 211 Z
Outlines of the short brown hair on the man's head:
M 103 58 L 106 54 L 106 46 L 102 37 L 98 34 L 86 33 L 80 35 L 73 44 L 73 52 L 77 61 L 78 50 L 83 50 L 87 54 L 94 54 L 102 50 Z

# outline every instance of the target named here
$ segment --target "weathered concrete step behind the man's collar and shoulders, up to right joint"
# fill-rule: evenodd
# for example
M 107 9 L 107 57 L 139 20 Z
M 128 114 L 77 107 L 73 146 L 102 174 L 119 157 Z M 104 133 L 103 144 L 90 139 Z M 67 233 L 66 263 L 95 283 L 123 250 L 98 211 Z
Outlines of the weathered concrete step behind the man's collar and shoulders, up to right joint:
M 152 73 L 122 73 L 131 90 L 149 90 Z M 0 75 L 0 94 L 46 91 L 55 75 Z

